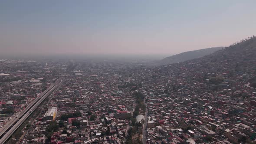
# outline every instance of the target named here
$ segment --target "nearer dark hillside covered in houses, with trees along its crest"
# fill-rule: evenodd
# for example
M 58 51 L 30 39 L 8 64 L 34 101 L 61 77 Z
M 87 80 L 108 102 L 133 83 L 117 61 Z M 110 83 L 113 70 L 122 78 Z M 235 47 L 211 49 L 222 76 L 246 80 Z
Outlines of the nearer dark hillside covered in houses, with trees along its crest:
M 184 79 L 191 82 L 191 85 L 203 82 L 207 84 L 207 89 L 216 89 L 220 85 L 239 89 L 242 85 L 256 88 L 256 37 L 242 40 L 207 56 L 158 66 L 157 69 L 156 73 L 182 78 L 177 82 Z

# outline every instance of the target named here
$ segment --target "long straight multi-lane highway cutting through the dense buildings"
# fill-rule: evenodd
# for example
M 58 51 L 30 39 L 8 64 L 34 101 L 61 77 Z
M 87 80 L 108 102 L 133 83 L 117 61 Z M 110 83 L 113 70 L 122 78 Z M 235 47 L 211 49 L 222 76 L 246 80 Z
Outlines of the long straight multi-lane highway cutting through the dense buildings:
M 42 103 L 42 101 L 61 83 L 57 80 L 53 85 L 47 88 L 33 102 L 31 102 L 17 118 L 13 118 L 8 124 L 0 129 L 0 144 L 3 144 L 16 131 L 17 128 L 30 116 L 30 114 Z

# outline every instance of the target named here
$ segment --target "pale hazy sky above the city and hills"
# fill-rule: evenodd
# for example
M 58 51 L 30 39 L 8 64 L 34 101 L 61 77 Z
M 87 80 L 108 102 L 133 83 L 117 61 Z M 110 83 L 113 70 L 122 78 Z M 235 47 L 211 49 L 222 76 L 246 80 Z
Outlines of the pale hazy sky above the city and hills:
M 256 35 L 256 0 L 0 0 L 0 53 L 171 55 Z

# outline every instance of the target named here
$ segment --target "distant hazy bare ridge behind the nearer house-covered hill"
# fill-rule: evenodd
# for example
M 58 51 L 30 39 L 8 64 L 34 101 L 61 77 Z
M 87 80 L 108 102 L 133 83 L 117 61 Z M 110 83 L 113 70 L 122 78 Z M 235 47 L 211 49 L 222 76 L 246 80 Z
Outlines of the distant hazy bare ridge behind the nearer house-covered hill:
M 182 52 L 180 54 L 161 59 L 160 61 L 158 61 L 158 63 L 164 65 L 164 64 L 170 64 L 170 63 L 176 63 L 176 62 L 184 62 L 186 60 L 196 59 L 202 56 L 209 55 L 223 48 L 224 47 L 213 47 L 213 48 L 207 48 L 207 49 L 199 49 L 194 51 Z

